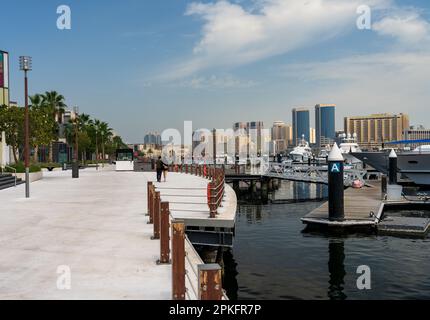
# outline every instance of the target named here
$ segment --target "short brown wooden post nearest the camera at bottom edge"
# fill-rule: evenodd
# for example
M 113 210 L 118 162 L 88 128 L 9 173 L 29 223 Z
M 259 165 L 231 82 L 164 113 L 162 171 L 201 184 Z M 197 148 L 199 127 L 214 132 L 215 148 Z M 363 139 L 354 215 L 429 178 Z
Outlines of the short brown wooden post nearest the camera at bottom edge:
M 222 300 L 221 267 L 219 264 L 200 264 L 199 300 Z

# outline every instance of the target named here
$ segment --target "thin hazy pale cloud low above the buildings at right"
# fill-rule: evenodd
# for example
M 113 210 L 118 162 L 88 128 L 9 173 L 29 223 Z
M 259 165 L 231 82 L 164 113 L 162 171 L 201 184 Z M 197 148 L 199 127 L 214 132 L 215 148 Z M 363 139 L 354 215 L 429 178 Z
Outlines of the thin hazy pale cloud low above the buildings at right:
M 361 55 L 288 65 L 283 71 L 302 99 L 335 101 L 338 123 L 343 116 L 375 112 L 409 113 L 415 123 L 430 120 L 430 56 L 425 52 Z

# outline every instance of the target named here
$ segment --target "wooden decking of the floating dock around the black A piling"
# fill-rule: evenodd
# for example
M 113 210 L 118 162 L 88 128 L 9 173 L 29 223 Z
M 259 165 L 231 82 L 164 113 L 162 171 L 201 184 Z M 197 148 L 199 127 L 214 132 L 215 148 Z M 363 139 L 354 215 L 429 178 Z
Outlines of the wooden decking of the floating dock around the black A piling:
M 328 202 L 307 214 L 302 221 L 307 224 L 333 226 L 376 225 L 382 211 L 380 188 L 369 185 L 362 189 L 350 188 L 345 191 L 345 221 L 334 222 L 328 219 Z

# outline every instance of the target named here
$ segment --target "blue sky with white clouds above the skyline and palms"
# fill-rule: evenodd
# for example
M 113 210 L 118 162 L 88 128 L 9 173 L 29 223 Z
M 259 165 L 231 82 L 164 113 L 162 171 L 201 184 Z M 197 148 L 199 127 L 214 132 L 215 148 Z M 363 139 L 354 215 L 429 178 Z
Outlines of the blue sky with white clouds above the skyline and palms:
M 430 128 L 428 0 L 0 2 L 11 99 L 23 102 L 18 57 L 32 56 L 30 94 L 56 90 L 129 143 L 184 121 L 291 123 L 319 103 L 337 105 L 339 130 L 385 112 Z M 370 29 L 357 27 L 363 5 Z

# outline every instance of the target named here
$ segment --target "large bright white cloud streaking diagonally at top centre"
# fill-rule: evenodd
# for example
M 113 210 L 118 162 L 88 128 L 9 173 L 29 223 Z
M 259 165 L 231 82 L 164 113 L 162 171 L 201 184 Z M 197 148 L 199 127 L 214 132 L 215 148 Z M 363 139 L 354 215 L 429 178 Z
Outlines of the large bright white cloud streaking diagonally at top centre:
M 386 6 L 390 0 L 369 0 Z M 203 20 L 193 55 L 164 75 L 188 77 L 210 68 L 230 68 L 314 46 L 354 30 L 361 0 L 256 0 L 252 10 L 229 1 L 192 3 L 186 15 Z

